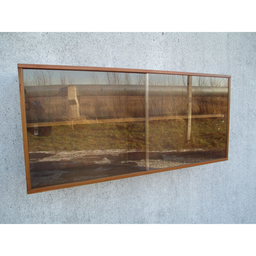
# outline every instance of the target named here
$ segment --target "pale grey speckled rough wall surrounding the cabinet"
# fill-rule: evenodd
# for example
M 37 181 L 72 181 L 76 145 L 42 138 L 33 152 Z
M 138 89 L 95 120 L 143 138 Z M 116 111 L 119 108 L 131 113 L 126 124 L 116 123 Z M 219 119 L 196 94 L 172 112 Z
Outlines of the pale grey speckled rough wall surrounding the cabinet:
M 1 223 L 256 223 L 255 33 L 1 33 Z M 229 160 L 27 195 L 17 63 L 231 75 Z

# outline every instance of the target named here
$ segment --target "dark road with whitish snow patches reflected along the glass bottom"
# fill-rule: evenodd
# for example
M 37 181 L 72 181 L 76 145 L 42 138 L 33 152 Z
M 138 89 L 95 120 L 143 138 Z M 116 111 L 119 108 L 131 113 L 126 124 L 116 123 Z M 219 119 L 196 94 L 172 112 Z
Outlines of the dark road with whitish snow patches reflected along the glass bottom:
M 225 149 L 154 151 L 149 153 L 149 170 L 199 163 L 224 156 Z M 29 157 L 33 188 L 145 171 L 145 151 L 31 152 Z

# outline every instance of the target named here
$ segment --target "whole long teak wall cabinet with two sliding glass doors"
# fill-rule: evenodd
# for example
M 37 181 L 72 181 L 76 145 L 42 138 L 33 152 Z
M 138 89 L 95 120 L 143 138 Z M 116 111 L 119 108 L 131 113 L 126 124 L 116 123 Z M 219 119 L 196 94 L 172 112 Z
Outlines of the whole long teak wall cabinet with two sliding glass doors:
M 230 76 L 18 70 L 28 193 L 228 159 Z

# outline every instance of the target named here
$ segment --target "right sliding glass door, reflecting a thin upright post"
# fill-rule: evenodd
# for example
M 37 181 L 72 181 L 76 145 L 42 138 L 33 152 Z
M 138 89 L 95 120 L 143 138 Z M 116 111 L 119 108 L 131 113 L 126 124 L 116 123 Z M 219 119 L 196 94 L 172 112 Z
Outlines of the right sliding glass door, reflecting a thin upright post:
M 149 74 L 149 170 L 226 157 L 228 78 Z

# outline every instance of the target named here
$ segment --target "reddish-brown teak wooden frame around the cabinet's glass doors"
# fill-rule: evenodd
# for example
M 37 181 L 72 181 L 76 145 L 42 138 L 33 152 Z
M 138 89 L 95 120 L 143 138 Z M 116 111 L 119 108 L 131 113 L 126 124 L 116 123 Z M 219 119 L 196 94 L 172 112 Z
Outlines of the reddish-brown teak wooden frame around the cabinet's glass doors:
M 31 127 L 31 125 L 33 125 L 33 124 L 27 124 L 26 123 L 25 96 L 24 96 L 24 84 L 23 84 L 23 69 L 104 71 L 104 72 L 123 72 L 123 73 L 129 72 L 129 73 L 141 73 L 141 74 L 145 74 L 145 76 L 147 76 L 148 73 L 149 74 L 151 73 L 151 74 L 168 74 L 168 75 L 184 75 L 184 76 L 208 76 L 208 77 L 228 78 L 228 116 L 227 116 L 227 147 L 226 147 L 226 157 L 225 158 L 211 160 L 211 161 L 206 161 L 206 162 L 200 162 L 200 163 L 194 163 L 194 164 L 184 164 L 184 165 L 168 167 L 168 168 L 163 168 L 163 169 L 141 171 L 141 172 L 133 172 L 133 173 L 129 173 L 129 174 L 115 175 L 115 176 L 111 176 L 111 177 L 97 178 L 97 179 L 86 180 L 86 181 L 68 182 L 68 183 L 59 184 L 59 185 L 51 185 L 51 186 L 45 186 L 45 187 L 40 187 L 40 188 L 31 188 L 30 170 L 29 170 L 29 158 L 28 158 L 27 127 Z M 123 179 L 123 178 L 135 177 L 135 176 L 151 174 L 151 173 L 156 173 L 156 172 L 165 172 L 165 171 L 170 171 L 170 170 L 175 170 L 175 169 L 181 169 L 181 168 L 197 166 L 197 165 L 202 165 L 202 164 L 211 164 L 211 163 L 216 163 L 216 162 L 228 160 L 230 87 L 231 87 L 231 76 L 229 76 L 229 75 L 215 75 L 215 74 L 174 72 L 174 71 L 147 70 L 147 69 L 100 68 L 100 67 L 79 67 L 79 66 L 60 66 L 60 65 L 37 65 L 37 64 L 18 64 L 18 73 L 19 73 L 19 87 L 20 87 L 20 108 L 21 108 L 23 147 L 24 147 L 25 171 L 26 171 L 27 193 L 28 194 L 44 192 L 44 191 L 49 191 L 49 190 L 54 190 L 54 189 L 76 187 L 76 186 L 92 184 L 92 183 L 98 183 L 98 182 L 109 181 L 109 180 L 118 180 L 118 179 Z M 146 79 L 146 81 L 147 81 L 147 79 Z M 148 84 L 146 84 L 145 86 L 147 87 Z M 146 92 L 148 93 L 148 90 L 146 90 Z M 146 104 L 147 104 L 147 96 L 148 95 L 146 95 Z M 219 117 L 220 115 L 211 115 L 211 116 L 212 117 Z M 203 117 L 203 116 L 201 116 L 201 117 Z M 145 121 L 147 119 L 148 120 L 153 120 L 151 118 L 152 117 L 148 118 L 148 113 L 146 113 L 146 118 L 135 118 L 135 119 L 141 119 L 141 120 L 137 120 L 137 121 Z M 187 118 L 187 117 L 183 116 L 182 118 Z M 198 116 L 191 116 L 191 118 L 198 118 Z M 168 119 L 168 117 L 164 117 L 164 119 Z M 110 120 L 108 120 L 108 121 L 110 121 Z M 126 121 L 129 121 L 129 120 L 126 120 Z M 133 120 L 133 121 L 135 121 L 135 120 Z M 77 121 L 77 122 L 79 122 L 79 121 Z M 86 123 L 86 121 L 83 121 L 83 122 Z M 91 121 L 91 122 L 93 123 L 93 121 Z M 116 122 L 116 120 L 113 120 L 113 122 Z M 120 122 L 120 120 L 118 122 Z M 55 124 L 55 125 L 67 125 L 67 124 L 69 124 L 68 122 L 59 122 L 59 123 L 60 124 Z M 97 122 L 94 122 L 94 123 L 97 123 Z M 48 125 L 51 125 L 51 124 L 50 123 L 44 123 L 42 125 L 47 125 L 48 126 Z M 147 131 L 147 127 L 146 127 L 146 133 L 147 132 L 148 131 Z M 147 151 L 148 150 L 146 148 L 146 154 L 147 154 Z M 147 160 L 146 160 L 146 166 L 147 166 Z

